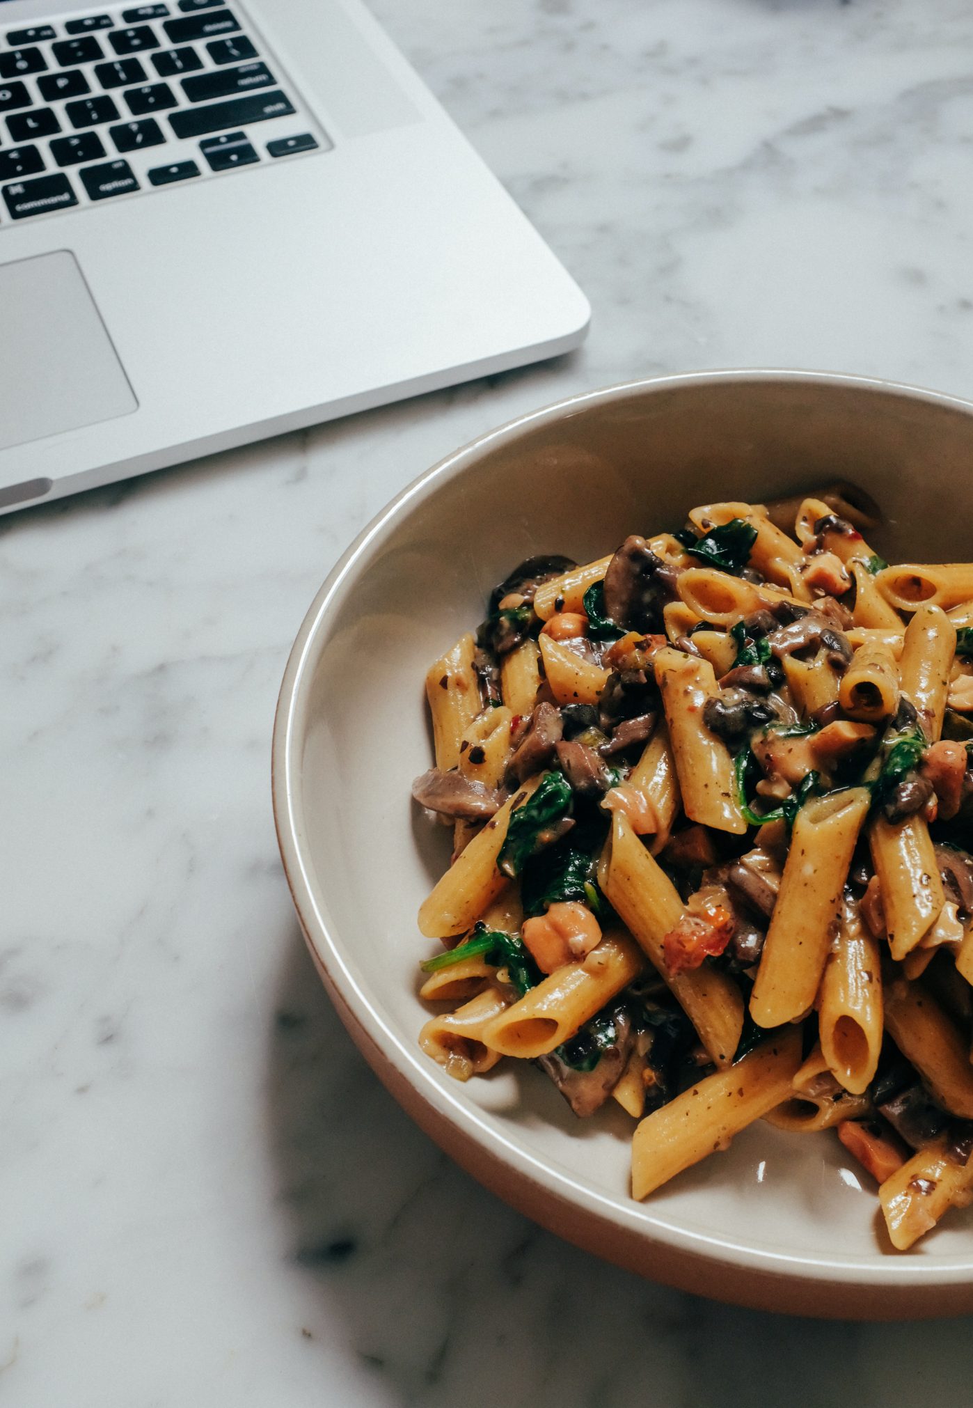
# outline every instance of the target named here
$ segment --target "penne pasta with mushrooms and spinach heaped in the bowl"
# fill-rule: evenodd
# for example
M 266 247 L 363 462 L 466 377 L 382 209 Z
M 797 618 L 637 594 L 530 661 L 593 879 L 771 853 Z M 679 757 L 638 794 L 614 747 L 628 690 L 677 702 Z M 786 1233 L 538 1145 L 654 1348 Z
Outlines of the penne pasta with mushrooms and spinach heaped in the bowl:
M 425 680 L 420 1043 L 615 1101 L 639 1200 L 831 1131 L 904 1250 L 973 1201 L 973 565 L 876 525 L 848 486 L 707 504 L 493 590 Z

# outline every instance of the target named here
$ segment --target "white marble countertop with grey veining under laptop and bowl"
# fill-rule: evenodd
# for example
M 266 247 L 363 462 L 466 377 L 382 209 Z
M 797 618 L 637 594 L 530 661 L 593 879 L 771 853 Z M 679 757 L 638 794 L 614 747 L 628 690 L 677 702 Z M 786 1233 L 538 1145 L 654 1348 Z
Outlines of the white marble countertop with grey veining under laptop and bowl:
M 973 394 L 973 10 L 376 10 L 589 294 L 590 341 L 3 520 L 0 1402 L 965 1401 L 967 1322 L 696 1301 L 452 1167 L 304 955 L 269 739 L 341 549 L 518 411 L 748 365 Z

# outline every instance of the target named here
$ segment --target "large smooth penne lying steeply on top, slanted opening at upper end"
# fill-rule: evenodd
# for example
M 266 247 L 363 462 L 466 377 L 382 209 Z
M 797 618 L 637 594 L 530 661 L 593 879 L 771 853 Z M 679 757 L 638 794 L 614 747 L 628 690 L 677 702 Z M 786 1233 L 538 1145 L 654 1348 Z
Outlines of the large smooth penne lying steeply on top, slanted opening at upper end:
M 867 788 L 853 787 L 798 811 L 751 995 L 758 1026 L 793 1022 L 812 1005 L 867 810 Z

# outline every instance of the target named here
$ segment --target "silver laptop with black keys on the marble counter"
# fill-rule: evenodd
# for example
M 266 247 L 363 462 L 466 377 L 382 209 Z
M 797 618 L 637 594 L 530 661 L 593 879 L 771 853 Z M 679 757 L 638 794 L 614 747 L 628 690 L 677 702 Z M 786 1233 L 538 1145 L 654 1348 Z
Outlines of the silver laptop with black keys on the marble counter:
M 356 0 L 0 0 L 0 511 L 565 352 L 584 296 Z

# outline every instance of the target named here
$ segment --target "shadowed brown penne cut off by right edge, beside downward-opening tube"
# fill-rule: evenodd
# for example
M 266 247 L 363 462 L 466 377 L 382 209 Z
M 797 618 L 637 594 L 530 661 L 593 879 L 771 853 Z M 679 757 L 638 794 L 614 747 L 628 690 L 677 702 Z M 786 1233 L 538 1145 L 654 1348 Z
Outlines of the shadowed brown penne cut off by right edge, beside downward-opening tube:
M 943 1110 L 973 1119 L 969 1043 L 921 983 L 897 979 L 886 990 L 886 1028 Z

